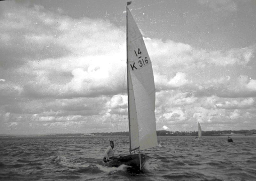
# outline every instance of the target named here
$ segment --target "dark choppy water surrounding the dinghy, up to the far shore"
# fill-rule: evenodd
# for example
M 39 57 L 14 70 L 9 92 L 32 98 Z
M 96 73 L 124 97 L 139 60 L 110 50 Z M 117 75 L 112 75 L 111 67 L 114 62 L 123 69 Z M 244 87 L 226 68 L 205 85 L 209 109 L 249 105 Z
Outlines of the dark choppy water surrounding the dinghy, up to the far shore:
M 128 137 L 0 137 L 0 180 L 256 180 L 256 137 L 166 136 L 162 147 L 144 151 L 140 174 L 102 166 L 109 140 L 117 155 L 127 155 Z

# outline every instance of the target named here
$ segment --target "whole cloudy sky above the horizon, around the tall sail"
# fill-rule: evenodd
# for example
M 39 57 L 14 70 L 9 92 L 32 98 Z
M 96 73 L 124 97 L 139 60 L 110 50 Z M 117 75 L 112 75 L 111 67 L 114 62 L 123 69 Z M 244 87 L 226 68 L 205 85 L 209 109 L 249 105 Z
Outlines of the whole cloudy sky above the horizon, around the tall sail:
M 156 128 L 256 129 L 256 1 L 134 0 Z M 0 134 L 128 131 L 126 1 L 0 1 Z

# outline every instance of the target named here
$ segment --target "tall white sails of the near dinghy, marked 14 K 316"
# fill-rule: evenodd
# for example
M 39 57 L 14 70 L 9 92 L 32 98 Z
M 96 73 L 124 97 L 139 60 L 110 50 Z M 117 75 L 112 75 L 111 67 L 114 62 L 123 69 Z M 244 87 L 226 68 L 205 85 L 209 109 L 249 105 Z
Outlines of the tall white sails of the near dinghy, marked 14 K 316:
M 152 64 L 129 8 L 127 8 L 127 61 L 131 150 L 156 147 L 156 89 Z

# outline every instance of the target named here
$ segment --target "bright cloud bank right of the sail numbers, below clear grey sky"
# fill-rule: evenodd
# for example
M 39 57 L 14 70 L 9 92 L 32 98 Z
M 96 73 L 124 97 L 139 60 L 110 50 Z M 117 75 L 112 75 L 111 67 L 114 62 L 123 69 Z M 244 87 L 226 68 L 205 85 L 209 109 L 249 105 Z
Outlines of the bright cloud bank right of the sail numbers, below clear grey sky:
M 150 39 L 145 41 L 150 57 L 160 68 L 172 70 L 175 68 L 205 68 L 206 66 L 232 66 L 235 64 L 246 65 L 254 57 L 256 46 L 233 48 L 229 50 L 207 51 L 195 49 L 191 46 L 173 41 Z M 157 51 L 155 51 L 157 49 Z M 153 61 L 154 64 L 154 61 Z M 179 69 L 178 69 L 179 70 Z M 181 72 L 181 71 L 180 71 Z

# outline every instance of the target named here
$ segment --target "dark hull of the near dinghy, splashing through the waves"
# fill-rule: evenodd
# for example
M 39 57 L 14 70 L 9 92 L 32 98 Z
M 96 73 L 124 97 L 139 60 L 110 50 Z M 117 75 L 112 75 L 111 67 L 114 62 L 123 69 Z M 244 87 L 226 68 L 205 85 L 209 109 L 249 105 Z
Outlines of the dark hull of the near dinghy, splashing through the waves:
M 127 155 L 122 156 L 120 158 L 115 158 L 104 163 L 104 166 L 107 167 L 119 167 L 120 165 L 128 165 L 132 167 L 134 170 L 140 170 L 140 160 L 141 160 L 141 170 L 146 162 L 146 156 L 143 154 L 134 154 L 134 155 Z

